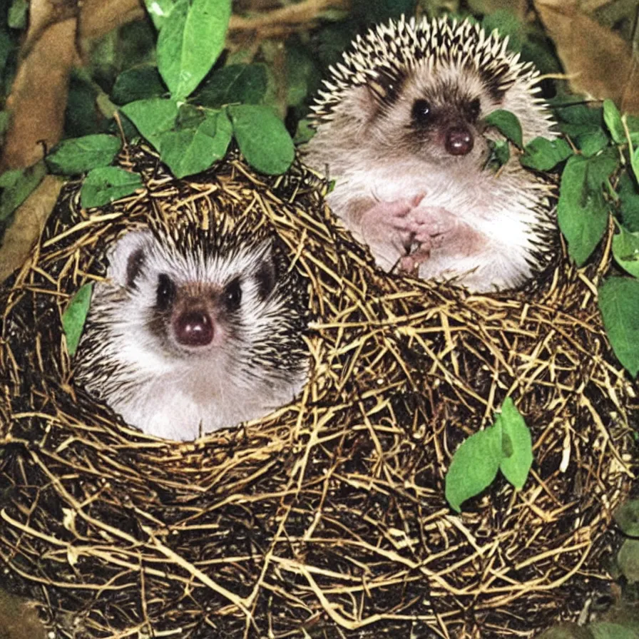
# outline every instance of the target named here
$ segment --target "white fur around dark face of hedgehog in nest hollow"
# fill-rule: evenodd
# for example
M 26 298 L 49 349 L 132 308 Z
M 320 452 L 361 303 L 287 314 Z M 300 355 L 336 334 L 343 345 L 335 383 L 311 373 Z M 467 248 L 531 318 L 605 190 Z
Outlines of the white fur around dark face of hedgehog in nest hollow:
M 126 287 L 128 257 L 142 247 L 145 265 L 136 287 Z M 287 404 L 300 392 L 306 374 L 273 370 L 247 362 L 254 344 L 263 342 L 273 322 L 286 312 L 281 297 L 257 295 L 249 276 L 270 250 L 240 247 L 232 255 L 205 259 L 195 252 L 182 255 L 158 245 L 150 232 L 130 232 L 109 253 L 108 280 L 95 285 L 88 334 L 78 350 L 78 382 L 102 397 L 131 426 L 167 439 L 195 439 L 200 434 L 256 419 Z M 198 282 L 220 287 L 243 276 L 241 326 L 228 327 L 214 318 L 213 341 L 206 347 L 185 347 L 169 337 L 160 343 L 148 321 L 155 304 L 158 275 L 176 283 Z M 239 337 L 234 337 L 237 329 Z M 100 340 L 92 350 L 91 340 Z M 92 374 L 103 359 L 116 362 L 112 379 Z

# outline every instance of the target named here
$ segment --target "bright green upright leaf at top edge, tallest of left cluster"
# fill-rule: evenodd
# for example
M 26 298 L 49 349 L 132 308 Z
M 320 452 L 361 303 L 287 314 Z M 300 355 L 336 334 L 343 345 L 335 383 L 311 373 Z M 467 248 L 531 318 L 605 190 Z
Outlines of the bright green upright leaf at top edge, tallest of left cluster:
M 158 36 L 158 68 L 173 98 L 188 96 L 222 49 L 230 0 L 178 0 Z

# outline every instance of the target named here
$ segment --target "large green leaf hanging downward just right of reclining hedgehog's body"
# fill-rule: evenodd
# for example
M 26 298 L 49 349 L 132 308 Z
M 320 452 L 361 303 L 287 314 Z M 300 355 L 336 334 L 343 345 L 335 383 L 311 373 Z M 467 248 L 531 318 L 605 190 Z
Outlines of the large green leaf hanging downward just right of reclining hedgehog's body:
M 559 189 L 559 228 L 568 240 L 568 252 L 578 266 L 588 260 L 608 225 L 608 207 L 601 184 L 597 185 L 597 180 L 590 175 L 593 159 L 573 155 L 563 170 Z

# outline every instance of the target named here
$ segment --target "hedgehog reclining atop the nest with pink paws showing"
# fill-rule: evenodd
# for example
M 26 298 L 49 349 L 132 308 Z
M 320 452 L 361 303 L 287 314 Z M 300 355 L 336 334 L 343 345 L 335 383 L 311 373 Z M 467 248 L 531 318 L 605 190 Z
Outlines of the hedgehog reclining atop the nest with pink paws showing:
M 555 180 L 514 154 L 495 170 L 503 138 L 484 118 L 505 109 L 524 143 L 556 137 L 538 78 L 496 31 L 402 16 L 330 68 L 305 161 L 334 180 L 329 205 L 382 269 L 472 292 L 519 287 L 556 255 Z

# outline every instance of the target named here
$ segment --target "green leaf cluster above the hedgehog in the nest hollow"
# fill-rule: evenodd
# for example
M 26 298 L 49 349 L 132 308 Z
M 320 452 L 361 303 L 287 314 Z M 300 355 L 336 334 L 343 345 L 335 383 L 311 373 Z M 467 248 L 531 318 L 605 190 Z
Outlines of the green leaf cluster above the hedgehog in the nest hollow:
M 149 1 L 147 8 L 158 29 L 157 66 L 130 68 L 116 79 L 111 97 L 122 105 L 125 128 L 153 145 L 178 178 L 223 158 L 233 138 L 257 170 L 284 173 L 295 149 L 284 123 L 259 104 L 264 68 L 236 64 L 212 72 L 224 48 L 230 0 Z M 114 135 L 71 138 L 53 149 L 47 163 L 56 173 L 88 172 L 82 204 L 100 206 L 140 186 L 136 176 L 109 166 L 120 148 Z

